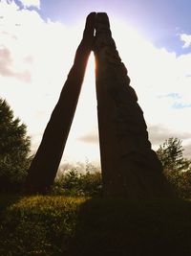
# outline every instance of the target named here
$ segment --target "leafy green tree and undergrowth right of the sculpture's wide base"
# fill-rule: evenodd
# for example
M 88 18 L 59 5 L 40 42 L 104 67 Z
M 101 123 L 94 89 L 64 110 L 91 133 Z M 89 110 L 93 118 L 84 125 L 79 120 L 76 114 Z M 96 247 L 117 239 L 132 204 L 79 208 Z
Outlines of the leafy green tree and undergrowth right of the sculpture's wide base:
M 178 138 L 169 138 L 157 151 L 163 173 L 175 188 L 180 198 L 191 198 L 191 161 L 183 157 L 183 148 Z

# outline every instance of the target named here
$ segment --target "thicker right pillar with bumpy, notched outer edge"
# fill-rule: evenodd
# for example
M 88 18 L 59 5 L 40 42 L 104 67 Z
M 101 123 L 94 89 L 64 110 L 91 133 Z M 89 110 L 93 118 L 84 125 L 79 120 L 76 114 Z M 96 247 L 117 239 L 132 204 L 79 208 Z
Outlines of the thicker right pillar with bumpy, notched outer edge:
M 148 140 L 138 97 L 118 56 L 106 13 L 96 14 L 96 98 L 103 193 L 169 197 L 171 190 Z

